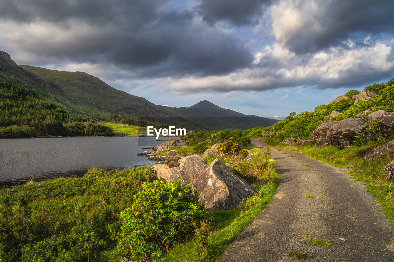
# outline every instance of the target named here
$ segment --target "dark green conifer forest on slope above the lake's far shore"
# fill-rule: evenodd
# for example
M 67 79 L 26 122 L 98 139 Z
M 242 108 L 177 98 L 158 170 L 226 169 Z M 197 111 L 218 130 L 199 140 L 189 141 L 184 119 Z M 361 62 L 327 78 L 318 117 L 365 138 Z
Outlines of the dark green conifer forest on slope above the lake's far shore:
M 0 129 L 0 137 L 113 135 L 109 127 L 71 115 L 4 77 L 0 77 Z

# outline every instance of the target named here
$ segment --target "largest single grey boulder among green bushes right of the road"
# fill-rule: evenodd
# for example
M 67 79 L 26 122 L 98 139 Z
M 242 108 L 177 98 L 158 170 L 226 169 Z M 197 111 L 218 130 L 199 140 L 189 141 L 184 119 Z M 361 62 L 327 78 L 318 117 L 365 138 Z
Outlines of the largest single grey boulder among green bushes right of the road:
M 366 120 L 364 118 L 346 118 L 331 123 L 334 124 L 327 131 L 327 143 L 340 149 L 351 146 L 354 137 L 366 131 Z

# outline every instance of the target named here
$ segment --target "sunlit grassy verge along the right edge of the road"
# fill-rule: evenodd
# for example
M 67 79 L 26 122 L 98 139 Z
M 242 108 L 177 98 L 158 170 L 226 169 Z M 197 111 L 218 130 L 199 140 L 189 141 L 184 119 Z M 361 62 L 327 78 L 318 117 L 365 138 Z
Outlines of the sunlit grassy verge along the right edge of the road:
M 357 181 L 365 182 L 367 191 L 370 192 L 377 203 L 383 207 L 383 209 L 379 211 L 394 220 L 394 183 L 386 180 L 384 172 L 385 166 L 393 160 L 393 156 L 388 155 L 388 157 L 381 157 L 377 160 L 367 160 L 359 157 L 362 149 L 380 146 L 391 139 L 393 139 L 393 137 L 383 141 L 369 141 L 368 144 L 363 146 L 353 145 L 342 150 L 331 145 L 316 149 L 314 148 L 314 143 L 305 146 L 288 147 L 286 149 L 299 152 L 331 165 L 344 168 L 351 167 L 349 168 L 349 172 L 347 172 L 348 175 Z M 264 141 L 271 146 L 284 148 L 283 145 L 270 143 L 268 139 L 264 138 Z

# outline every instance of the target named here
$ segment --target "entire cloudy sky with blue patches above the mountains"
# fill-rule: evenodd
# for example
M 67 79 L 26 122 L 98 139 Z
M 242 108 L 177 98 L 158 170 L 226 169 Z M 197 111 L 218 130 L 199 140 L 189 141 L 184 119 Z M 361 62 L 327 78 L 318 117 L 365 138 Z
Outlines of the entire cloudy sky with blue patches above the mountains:
M 313 111 L 394 77 L 392 0 L 0 0 L 0 50 L 155 104 Z

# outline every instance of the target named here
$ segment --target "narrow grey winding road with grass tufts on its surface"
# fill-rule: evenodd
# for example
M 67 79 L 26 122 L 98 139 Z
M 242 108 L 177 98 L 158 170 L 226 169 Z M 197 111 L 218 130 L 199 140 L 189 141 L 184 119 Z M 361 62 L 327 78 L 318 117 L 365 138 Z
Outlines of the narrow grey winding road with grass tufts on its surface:
M 252 143 L 266 146 L 261 138 Z M 309 255 L 307 261 L 394 261 L 393 221 L 347 169 L 284 149 L 271 156 L 281 176 L 276 194 L 219 261 L 298 261 L 286 256 L 290 251 Z M 333 244 L 304 245 L 301 238 Z

